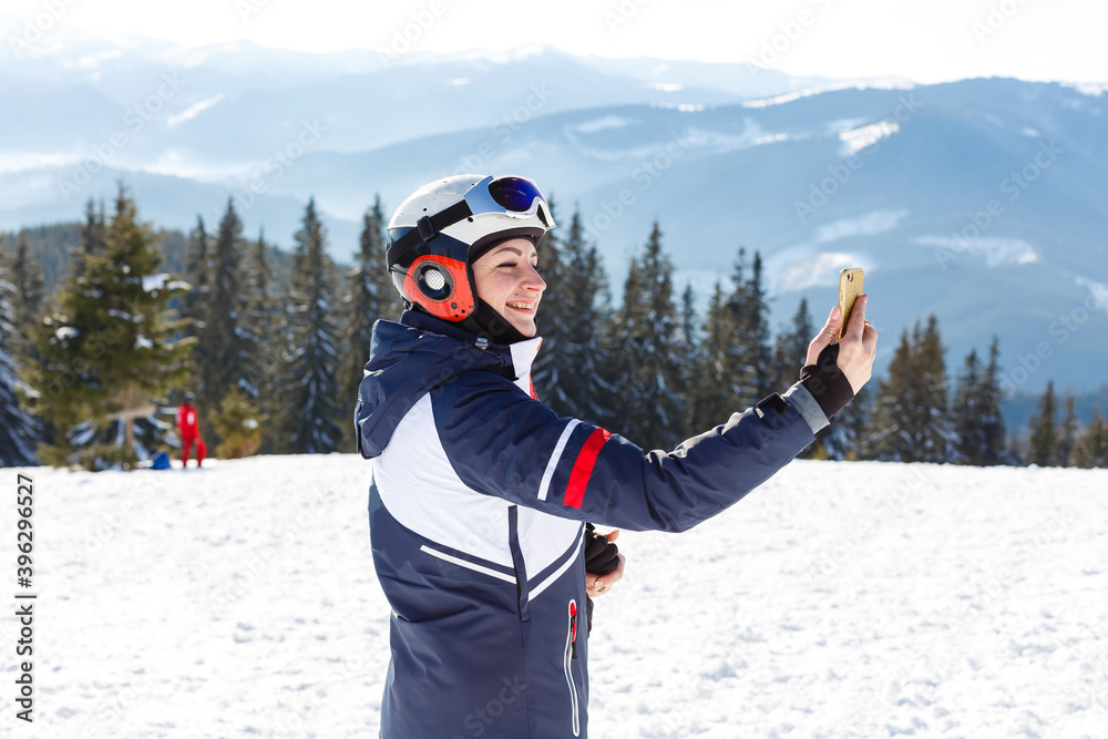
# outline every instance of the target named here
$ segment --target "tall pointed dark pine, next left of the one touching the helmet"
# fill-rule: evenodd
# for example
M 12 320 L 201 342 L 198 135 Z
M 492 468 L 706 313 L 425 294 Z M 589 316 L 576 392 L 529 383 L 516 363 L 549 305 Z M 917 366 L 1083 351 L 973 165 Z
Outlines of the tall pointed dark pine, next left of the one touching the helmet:
M 335 451 L 341 432 L 339 409 L 339 328 L 335 316 L 335 269 L 325 250 L 324 225 L 316 201 L 308 201 L 304 227 L 296 233 L 289 284 L 289 338 L 281 397 L 287 414 L 283 427 L 293 453 Z M 345 365 L 345 362 L 343 362 Z

